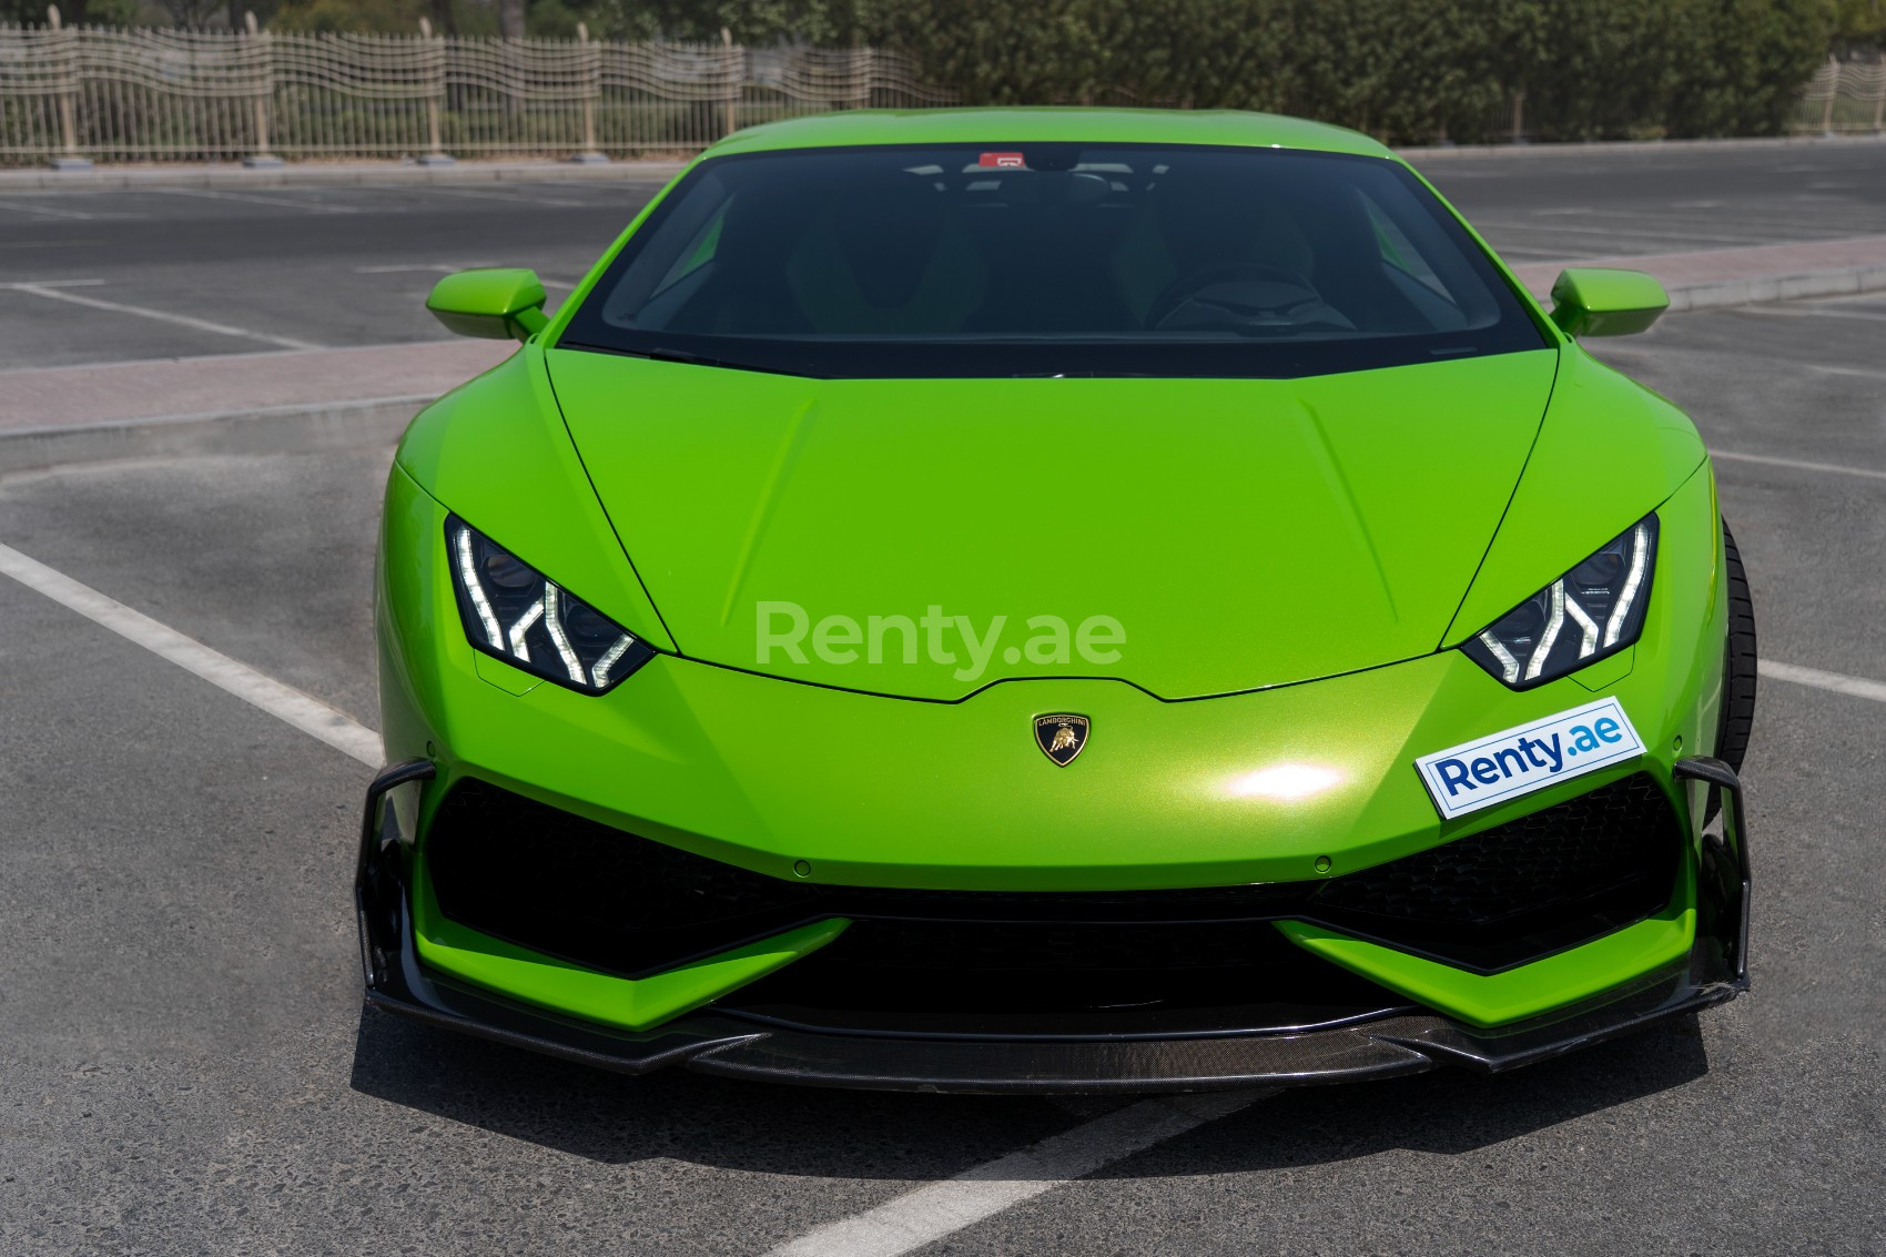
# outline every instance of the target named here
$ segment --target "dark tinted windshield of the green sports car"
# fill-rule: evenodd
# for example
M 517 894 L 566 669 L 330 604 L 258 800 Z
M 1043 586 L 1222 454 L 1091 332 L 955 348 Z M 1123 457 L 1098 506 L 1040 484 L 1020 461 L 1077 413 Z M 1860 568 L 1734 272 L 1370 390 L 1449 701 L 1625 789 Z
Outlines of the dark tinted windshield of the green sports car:
M 817 377 L 1292 377 L 1547 342 L 1398 162 L 984 143 L 702 162 L 560 344 Z

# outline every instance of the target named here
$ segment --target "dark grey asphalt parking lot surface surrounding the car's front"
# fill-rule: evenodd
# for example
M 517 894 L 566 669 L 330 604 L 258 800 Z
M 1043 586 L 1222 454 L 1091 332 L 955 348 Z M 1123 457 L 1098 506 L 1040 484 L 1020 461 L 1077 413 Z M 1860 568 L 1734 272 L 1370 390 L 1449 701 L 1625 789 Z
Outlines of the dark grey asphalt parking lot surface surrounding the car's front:
M 1605 345 L 1718 449 L 1763 655 L 1873 679 L 1882 334 L 1848 300 Z M 11 476 L 0 542 L 372 725 L 387 461 Z M 1882 734 L 1886 704 L 1763 685 L 1746 998 L 1496 1080 L 1258 1098 L 924 1251 L 1886 1249 Z M 762 1253 L 1117 1104 L 626 1080 L 362 1015 L 366 776 L 0 578 L 0 1253 Z

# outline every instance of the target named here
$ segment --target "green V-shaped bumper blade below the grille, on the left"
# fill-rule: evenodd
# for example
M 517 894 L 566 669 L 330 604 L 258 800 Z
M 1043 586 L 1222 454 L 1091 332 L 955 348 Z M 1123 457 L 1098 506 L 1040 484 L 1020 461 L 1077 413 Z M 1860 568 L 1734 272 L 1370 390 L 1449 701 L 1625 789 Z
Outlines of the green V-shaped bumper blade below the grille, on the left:
M 439 913 L 432 887 L 413 893 L 413 938 L 428 966 L 526 1004 L 622 1031 L 647 1031 L 709 1004 L 728 991 L 800 961 L 845 932 L 851 921 L 830 917 L 690 961 L 649 978 L 617 978 L 479 934 Z

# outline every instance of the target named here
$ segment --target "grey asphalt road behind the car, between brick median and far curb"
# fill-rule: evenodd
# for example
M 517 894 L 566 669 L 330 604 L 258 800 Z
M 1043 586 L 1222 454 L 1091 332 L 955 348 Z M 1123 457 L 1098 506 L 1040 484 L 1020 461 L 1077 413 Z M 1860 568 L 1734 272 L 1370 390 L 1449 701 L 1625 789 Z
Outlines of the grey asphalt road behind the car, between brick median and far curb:
M 1513 262 L 1886 232 L 1886 143 L 1443 157 L 1426 170 Z M 554 300 L 654 191 L 634 177 L 4 191 L 0 370 L 438 340 L 422 302 L 439 274 L 534 266 Z M 6 289 L 21 283 L 34 287 Z

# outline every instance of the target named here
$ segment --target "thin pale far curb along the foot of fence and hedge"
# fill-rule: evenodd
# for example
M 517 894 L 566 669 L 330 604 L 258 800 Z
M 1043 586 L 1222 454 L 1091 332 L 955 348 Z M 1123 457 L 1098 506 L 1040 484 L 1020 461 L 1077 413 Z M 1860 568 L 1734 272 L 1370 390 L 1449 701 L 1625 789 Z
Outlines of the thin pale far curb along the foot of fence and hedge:
M 1607 140 L 1590 143 L 1475 143 L 1396 149 L 1413 162 L 1481 159 L 1580 159 L 1614 155 L 1682 155 L 1775 151 L 1801 147 L 1863 147 L 1886 136 L 1771 136 L 1748 140 Z M 0 191 L 124 191 L 157 187 L 336 187 L 360 183 L 666 183 L 688 159 L 619 160 L 605 166 L 562 160 L 464 160 L 453 166 L 400 162 L 289 162 L 249 170 L 238 164 L 96 166 L 92 170 L 0 170 Z

